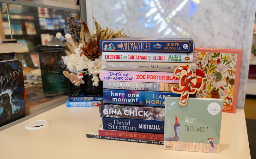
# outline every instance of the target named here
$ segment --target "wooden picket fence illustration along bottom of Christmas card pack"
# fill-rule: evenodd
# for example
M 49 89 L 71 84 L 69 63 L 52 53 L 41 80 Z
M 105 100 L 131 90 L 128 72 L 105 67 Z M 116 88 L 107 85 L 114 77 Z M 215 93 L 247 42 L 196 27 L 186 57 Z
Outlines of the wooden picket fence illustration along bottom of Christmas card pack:
M 166 150 L 179 150 L 179 151 L 194 151 L 194 152 L 207 152 L 219 153 L 219 145 L 195 142 L 179 142 L 179 141 L 164 141 L 164 149 Z

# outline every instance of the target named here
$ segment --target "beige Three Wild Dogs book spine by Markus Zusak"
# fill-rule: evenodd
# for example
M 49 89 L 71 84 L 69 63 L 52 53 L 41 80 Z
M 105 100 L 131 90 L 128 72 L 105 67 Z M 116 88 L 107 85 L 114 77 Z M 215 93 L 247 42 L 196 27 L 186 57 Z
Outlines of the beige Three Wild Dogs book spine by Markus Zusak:
M 106 70 L 113 71 L 150 71 L 150 72 L 173 72 L 179 65 L 187 63 L 160 63 L 160 62 L 120 62 L 107 61 Z M 189 63 L 189 67 L 196 73 L 196 63 Z

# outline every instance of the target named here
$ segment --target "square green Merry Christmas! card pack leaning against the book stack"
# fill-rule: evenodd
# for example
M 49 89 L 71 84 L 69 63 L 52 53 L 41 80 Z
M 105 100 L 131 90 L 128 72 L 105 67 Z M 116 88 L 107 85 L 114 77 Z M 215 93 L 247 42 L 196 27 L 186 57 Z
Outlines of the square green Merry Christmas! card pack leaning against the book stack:
M 186 106 L 177 97 L 165 102 L 164 149 L 219 152 L 222 99 L 189 98 Z

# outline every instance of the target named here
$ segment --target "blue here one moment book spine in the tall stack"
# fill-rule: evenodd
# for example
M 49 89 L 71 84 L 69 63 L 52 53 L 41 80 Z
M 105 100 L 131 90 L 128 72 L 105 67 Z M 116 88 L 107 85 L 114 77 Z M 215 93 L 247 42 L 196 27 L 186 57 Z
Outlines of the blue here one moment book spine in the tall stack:
M 164 100 L 168 96 L 180 97 L 180 94 L 160 91 L 103 89 L 103 102 L 113 104 L 165 107 Z M 195 94 L 191 97 L 195 97 Z

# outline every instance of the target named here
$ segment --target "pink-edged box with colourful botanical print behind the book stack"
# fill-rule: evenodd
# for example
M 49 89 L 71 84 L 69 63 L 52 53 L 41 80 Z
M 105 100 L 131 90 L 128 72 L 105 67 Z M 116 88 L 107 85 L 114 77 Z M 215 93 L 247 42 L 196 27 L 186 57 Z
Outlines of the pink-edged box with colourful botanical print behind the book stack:
M 242 50 L 197 48 L 196 74 L 203 78 L 198 98 L 220 98 L 223 112 L 235 113 Z

